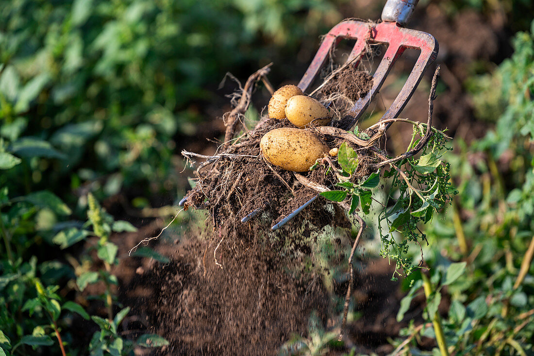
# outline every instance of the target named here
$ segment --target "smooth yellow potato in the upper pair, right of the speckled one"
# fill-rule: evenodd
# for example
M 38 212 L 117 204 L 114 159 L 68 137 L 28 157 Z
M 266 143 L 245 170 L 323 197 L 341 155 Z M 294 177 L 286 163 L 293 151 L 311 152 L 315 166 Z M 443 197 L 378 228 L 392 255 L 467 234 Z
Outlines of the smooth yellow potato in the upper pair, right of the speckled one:
M 331 120 L 331 115 L 323 104 L 305 95 L 296 95 L 287 100 L 286 117 L 300 128 L 328 125 Z

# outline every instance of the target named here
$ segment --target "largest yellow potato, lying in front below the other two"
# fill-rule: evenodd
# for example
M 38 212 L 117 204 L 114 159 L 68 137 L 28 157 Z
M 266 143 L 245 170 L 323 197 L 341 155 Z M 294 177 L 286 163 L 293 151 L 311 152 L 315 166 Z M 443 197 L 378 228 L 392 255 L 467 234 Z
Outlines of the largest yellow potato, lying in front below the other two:
M 286 171 L 306 172 L 318 158 L 326 156 L 328 146 L 310 131 L 278 128 L 263 135 L 260 141 L 263 156 Z

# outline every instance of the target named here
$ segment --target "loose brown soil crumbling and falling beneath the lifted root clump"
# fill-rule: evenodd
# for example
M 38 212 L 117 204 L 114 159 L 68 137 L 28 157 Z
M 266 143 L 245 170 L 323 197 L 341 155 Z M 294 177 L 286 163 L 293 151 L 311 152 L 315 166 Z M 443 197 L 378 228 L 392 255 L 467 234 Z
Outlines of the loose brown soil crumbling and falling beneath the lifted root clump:
M 158 295 L 137 305 L 150 315 L 150 332 L 169 341 L 159 354 L 274 355 L 306 334 L 312 310 L 326 320 L 329 296 L 317 276 L 302 273 L 302 261 L 253 244 L 239 253 L 221 249 L 219 268 L 213 250 L 206 242 L 180 245 L 169 264 L 135 281 Z

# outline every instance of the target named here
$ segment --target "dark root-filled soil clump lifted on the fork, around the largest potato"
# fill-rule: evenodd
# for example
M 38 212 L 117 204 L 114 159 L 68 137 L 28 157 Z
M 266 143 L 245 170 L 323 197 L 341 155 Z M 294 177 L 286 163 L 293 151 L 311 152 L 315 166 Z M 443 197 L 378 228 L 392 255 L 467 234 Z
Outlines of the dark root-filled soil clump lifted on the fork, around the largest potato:
M 305 241 L 313 243 L 309 238 L 314 231 L 318 234 L 325 226 L 350 226 L 337 205 L 319 198 L 283 228 L 275 233 L 270 232 L 272 225 L 318 194 L 297 181 L 293 172 L 263 159 L 260 152 L 261 137 L 280 127 L 295 126 L 287 119 L 266 120 L 261 127 L 249 131 L 249 137 L 230 145 L 219 154 L 213 166 L 199 172 L 197 185 L 187 195 L 185 205 L 209 211 L 216 231 L 211 237 L 212 241 L 230 238 L 234 242 L 254 243 L 268 239 L 274 249 L 285 246 L 289 247 L 289 252 L 294 252 L 301 247 L 309 250 L 304 246 L 307 244 Z M 332 147 L 341 143 L 333 136 L 318 135 Z M 369 173 L 368 166 L 362 164 L 354 177 L 356 179 Z M 302 175 L 325 187 L 333 187 L 337 181 L 332 171 L 327 172 L 326 163 Z M 260 213 L 256 218 L 249 220 L 246 225 L 241 222 L 242 218 L 257 209 Z M 252 234 L 244 229 L 249 224 L 255 230 Z

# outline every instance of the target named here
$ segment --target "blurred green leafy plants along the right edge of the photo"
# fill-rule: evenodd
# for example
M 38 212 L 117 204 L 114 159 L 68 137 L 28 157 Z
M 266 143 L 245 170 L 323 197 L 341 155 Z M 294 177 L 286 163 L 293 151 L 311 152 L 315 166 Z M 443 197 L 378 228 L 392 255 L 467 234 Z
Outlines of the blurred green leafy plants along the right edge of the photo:
M 412 321 L 403 330 L 407 338 L 396 350 L 401 354 L 431 354 L 420 350 L 419 340 L 437 336 L 429 327 L 435 319 L 450 353 L 524 355 L 532 350 L 534 22 L 530 33 L 518 33 L 513 44 L 514 55 L 492 74 L 499 100 L 506 103 L 496 129 L 470 146 L 459 144 L 450 158 L 459 196 L 427 231 L 430 273 L 414 276 L 397 315 L 403 320 L 427 284 L 425 322 Z M 495 91 L 486 91 L 486 99 L 493 101 Z M 484 92 L 477 95 L 484 98 Z M 446 312 L 443 304 L 438 309 L 441 300 L 449 305 Z

